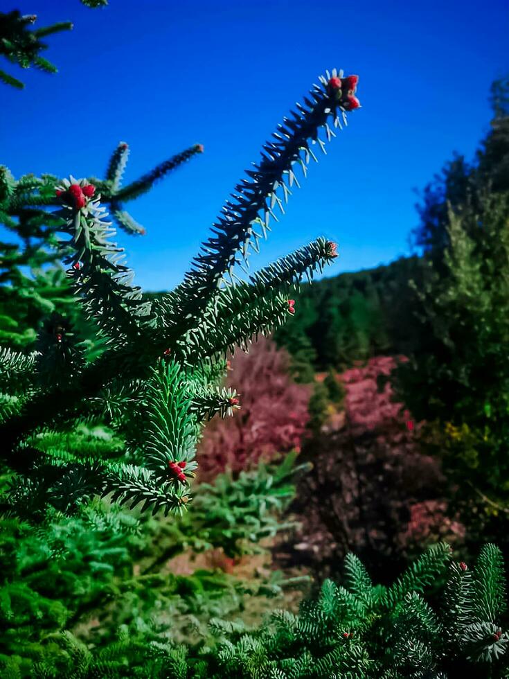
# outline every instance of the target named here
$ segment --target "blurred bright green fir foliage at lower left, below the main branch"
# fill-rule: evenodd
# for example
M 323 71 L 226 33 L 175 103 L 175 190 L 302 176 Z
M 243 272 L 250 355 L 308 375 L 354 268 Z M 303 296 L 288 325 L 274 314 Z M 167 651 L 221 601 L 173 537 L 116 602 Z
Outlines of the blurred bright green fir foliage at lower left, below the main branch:
M 220 549 L 225 561 L 262 553 L 260 540 L 285 529 L 280 515 L 294 495 L 296 473 L 288 458 L 237 480 L 217 477 L 215 484 L 200 486 L 192 511 L 179 520 L 136 516 L 97 501 L 73 517 L 48 511 L 37 527 L 4 515 L 1 676 L 39 676 L 39 663 L 50 664 L 58 676 L 66 664 L 78 662 L 66 655 L 69 640 L 84 649 L 93 643 L 101 658 L 114 656 L 119 625 L 136 628 L 132 637 L 143 632 L 140 648 L 148 651 L 150 624 L 158 616 L 166 630 L 171 620 L 175 642 L 187 628 L 206 631 L 211 617 L 242 610 L 246 594 L 280 595 L 294 583 L 277 573 L 252 581 L 213 570 L 184 576 L 166 564 L 188 550 Z

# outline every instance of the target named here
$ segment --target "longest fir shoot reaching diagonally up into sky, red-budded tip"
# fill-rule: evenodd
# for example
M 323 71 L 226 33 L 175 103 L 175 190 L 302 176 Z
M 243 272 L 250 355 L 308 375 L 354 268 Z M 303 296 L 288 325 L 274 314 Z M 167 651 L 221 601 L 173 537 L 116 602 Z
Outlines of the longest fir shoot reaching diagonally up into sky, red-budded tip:
M 335 69 L 332 80 L 334 84 L 338 81 Z M 304 99 L 305 105 L 297 104 L 298 112 L 292 112 L 293 118 L 284 118 L 284 124 L 278 126 L 278 132 L 273 135 L 276 141 L 264 145 L 260 163 L 254 170 L 247 170 L 249 179 L 235 186 L 233 200 L 226 201 L 223 214 L 213 225 L 214 237 L 202 245 L 181 285 L 182 317 L 198 317 L 224 275 L 231 272 L 236 255 L 240 252 L 247 260 L 249 243 L 253 242 L 256 247 L 260 234 L 255 229 L 259 227 L 265 236 L 269 218 L 275 216 L 276 204 L 284 212 L 278 191 L 287 202 L 289 187 L 296 180 L 294 165 L 299 164 L 305 173 L 310 158 L 316 160 L 312 143 L 318 143 L 325 152 L 319 130 L 325 130 L 328 140 L 334 136 L 328 119 L 332 119 L 334 127 L 340 127 L 341 116 L 346 124 L 346 108 L 350 107 L 346 90 L 343 93 L 335 89 L 332 80 L 329 73 L 327 78 L 321 76 L 321 85 L 314 85 L 310 98 Z

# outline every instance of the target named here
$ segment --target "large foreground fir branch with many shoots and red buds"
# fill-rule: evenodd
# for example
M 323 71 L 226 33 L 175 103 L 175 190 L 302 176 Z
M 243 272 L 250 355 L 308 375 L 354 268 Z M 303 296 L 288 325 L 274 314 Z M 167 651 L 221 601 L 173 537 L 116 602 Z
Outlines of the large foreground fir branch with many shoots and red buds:
M 236 186 L 233 200 L 226 201 L 213 237 L 202 246 L 184 282 L 154 303 L 143 299 L 133 284 L 123 249 L 111 240 L 114 231 L 104 204 L 113 205 L 115 212 L 115 206 L 147 191 L 201 147 L 125 188 L 119 186 L 125 144 L 114 152 L 103 182 L 73 177 L 58 182 L 46 175 L 16 183 L 4 171 L 6 222 L 17 228 L 12 216 L 20 215 L 21 221 L 21 215 L 36 208 L 35 224 L 28 218 L 29 229 L 49 222 L 48 229 L 66 236 L 61 253 L 69 267 L 69 285 L 104 342 L 101 355 L 87 360 L 71 322 L 54 315 L 39 333 L 30 376 L 15 356 L 2 354 L 10 380 L 1 403 L 0 436 L 3 457 L 15 472 L 10 502 L 19 511 L 28 497 L 34 510 L 50 504 L 73 511 L 93 495 L 111 495 L 131 507 L 141 504 L 143 511 L 181 514 L 186 509 L 204 418 L 231 414 L 238 407 L 235 392 L 217 387 L 222 357 L 235 346 L 247 349 L 251 337 L 292 315 L 288 295 L 304 276 L 310 279 L 334 260 L 336 246 L 318 238 L 248 281 L 239 279 L 233 268 L 247 262 L 249 246 L 258 249 L 276 205 L 284 211 L 283 201 L 296 183 L 295 166 L 305 173 L 310 159 L 316 160 L 313 145 L 325 151 L 320 130 L 332 139 L 330 124 L 341 127 L 346 112 L 359 106 L 356 86 L 357 76 L 343 78 L 335 70 L 321 76 L 310 98 L 279 125 L 276 141 L 264 146 L 260 163 Z M 48 212 L 55 203 L 57 210 Z M 119 221 L 130 228 L 128 220 Z M 118 414 L 111 409 L 116 398 L 125 406 Z M 104 419 L 125 440 L 123 456 L 86 448 L 73 455 L 47 445 L 48 437 L 94 418 Z

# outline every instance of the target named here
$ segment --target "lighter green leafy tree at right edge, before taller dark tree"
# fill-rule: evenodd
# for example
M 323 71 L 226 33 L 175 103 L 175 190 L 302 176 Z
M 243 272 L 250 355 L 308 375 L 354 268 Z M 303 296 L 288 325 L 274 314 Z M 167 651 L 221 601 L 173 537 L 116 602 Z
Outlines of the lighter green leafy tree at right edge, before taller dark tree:
M 456 499 L 484 498 L 485 511 L 498 513 L 509 501 L 509 195 L 478 202 L 449 211 L 443 262 L 422 265 L 420 342 L 394 382 L 428 421 L 425 439 L 459 486 Z

